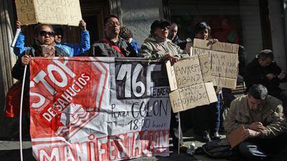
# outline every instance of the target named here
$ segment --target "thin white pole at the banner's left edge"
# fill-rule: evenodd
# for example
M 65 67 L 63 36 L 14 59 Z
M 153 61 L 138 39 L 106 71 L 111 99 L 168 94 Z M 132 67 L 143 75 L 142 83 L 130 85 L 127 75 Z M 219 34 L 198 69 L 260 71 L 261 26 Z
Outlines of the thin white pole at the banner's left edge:
M 21 161 L 23 161 L 23 148 L 22 148 L 22 107 L 23 107 L 23 95 L 24 95 L 24 85 L 25 85 L 25 77 L 26 77 L 27 65 L 24 68 L 24 75 L 22 81 L 21 88 L 21 104 L 20 104 L 20 114 L 19 114 L 19 140 L 20 140 L 20 157 Z

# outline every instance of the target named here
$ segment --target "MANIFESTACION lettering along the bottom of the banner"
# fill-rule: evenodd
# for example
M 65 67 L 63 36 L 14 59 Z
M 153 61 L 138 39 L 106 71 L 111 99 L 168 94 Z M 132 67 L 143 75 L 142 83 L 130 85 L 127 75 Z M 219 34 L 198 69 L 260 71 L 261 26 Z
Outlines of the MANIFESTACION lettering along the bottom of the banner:
M 55 144 L 55 146 L 39 148 L 37 151 L 39 151 L 40 161 L 60 161 L 61 159 L 71 161 L 76 158 L 78 160 L 89 160 L 87 158 L 90 160 L 123 160 L 142 154 L 150 156 L 164 153 L 166 143 L 168 143 L 168 131 L 141 131 L 98 138 L 90 142 Z

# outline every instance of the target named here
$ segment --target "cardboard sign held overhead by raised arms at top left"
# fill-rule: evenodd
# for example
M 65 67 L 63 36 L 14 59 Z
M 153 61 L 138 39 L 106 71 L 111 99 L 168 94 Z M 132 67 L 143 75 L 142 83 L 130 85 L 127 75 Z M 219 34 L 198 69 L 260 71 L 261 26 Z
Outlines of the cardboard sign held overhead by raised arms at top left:
M 48 23 L 78 26 L 82 19 L 80 1 L 15 0 L 17 17 L 23 25 Z

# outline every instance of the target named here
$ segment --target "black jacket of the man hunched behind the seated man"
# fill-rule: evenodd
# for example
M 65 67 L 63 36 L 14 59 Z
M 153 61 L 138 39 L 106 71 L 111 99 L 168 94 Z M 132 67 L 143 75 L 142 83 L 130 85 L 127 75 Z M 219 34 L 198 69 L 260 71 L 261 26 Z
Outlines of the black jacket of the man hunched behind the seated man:
M 269 66 L 262 67 L 259 64 L 258 58 L 255 58 L 247 64 L 245 67 L 245 73 L 243 79 L 247 86 L 247 89 L 252 86 L 252 84 L 262 84 L 266 86 L 268 89 L 268 93 L 276 97 L 281 92 L 281 88 L 279 88 L 279 84 L 283 82 L 287 82 L 287 78 L 279 79 L 275 77 L 271 81 L 268 80 L 266 75 L 272 73 L 274 75 L 279 75 L 281 73 L 281 68 L 273 61 Z

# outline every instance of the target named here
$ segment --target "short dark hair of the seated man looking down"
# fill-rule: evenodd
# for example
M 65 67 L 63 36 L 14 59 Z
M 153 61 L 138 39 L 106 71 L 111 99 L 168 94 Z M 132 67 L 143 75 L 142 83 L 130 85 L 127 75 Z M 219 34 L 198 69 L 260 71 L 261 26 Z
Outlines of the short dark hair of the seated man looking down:
M 251 95 L 256 100 L 266 100 L 268 96 L 268 90 L 261 84 L 253 84 L 248 91 L 248 95 Z

